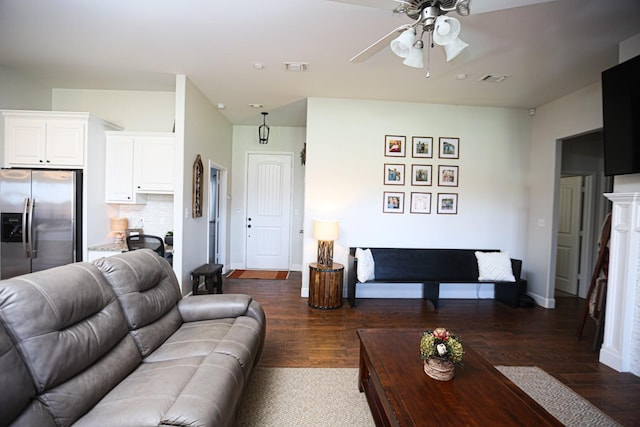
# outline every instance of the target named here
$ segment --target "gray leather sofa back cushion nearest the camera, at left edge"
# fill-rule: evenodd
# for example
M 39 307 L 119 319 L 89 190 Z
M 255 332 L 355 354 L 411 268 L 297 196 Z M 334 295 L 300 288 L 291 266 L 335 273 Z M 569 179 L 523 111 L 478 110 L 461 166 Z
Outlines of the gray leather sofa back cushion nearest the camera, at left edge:
M 73 423 L 141 361 L 113 290 L 88 263 L 0 282 L 0 317 L 59 425 Z M 42 407 L 30 411 L 38 417 Z

